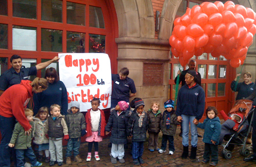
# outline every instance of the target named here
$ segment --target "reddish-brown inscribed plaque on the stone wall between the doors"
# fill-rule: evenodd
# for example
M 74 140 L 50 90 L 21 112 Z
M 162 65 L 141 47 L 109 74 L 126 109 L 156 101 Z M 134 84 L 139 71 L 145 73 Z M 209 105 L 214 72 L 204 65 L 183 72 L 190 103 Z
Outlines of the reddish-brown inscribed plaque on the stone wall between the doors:
M 143 63 L 143 86 L 163 85 L 163 63 Z

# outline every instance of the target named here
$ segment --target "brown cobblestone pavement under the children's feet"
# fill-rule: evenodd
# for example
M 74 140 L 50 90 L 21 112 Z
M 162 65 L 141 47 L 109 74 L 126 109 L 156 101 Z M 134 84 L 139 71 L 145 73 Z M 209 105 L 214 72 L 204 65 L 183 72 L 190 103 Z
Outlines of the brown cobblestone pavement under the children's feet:
M 157 151 L 150 152 L 148 150 L 148 142 L 146 141 L 144 144 L 144 153 L 143 153 L 143 160 L 145 161 L 145 164 L 142 164 L 142 166 L 209 166 L 208 164 L 203 164 L 201 161 L 203 160 L 203 153 L 204 153 L 204 143 L 202 141 L 203 138 L 198 138 L 198 145 L 197 145 L 197 160 L 190 160 L 189 158 L 183 160 L 181 158 L 182 154 L 182 137 L 179 137 L 180 128 L 177 128 L 176 135 L 174 137 L 174 146 L 175 146 L 175 152 L 173 155 L 168 155 L 168 152 L 166 151 L 163 154 L 159 154 Z M 198 128 L 198 133 L 203 136 L 204 131 L 202 129 Z M 161 141 L 162 136 L 159 133 L 159 141 L 158 146 L 161 147 Z M 190 142 L 190 141 L 189 141 Z M 129 148 L 125 149 L 125 163 L 121 164 L 117 161 L 116 164 L 112 164 L 110 162 L 110 148 L 108 148 L 109 144 L 109 137 L 103 139 L 102 142 L 99 143 L 99 156 L 101 158 L 100 161 L 95 161 L 94 158 L 94 151 L 92 151 L 92 161 L 86 162 L 86 156 L 87 156 L 87 143 L 82 143 L 81 147 L 79 149 L 80 156 L 83 160 L 82 163 L 77 163 L 74 161 L 74 158 L 71 157 L 72 164 L 66 165 L 66 147 L 63 147 L 63 167 L 64 166 L 133 166 L 132 162 L 132 156 L 131 156 L 131 144 L 129 144 Z M 189 146 L 190 147 L 190 146 Z M 233 156 L 230 160 L 226 160 L 221 156 L 221 151 L 223 149 L 222 146 L 219 146 L 219 163 L 218 166 L 256 166 L 255 162 L 245 162 L 243 161 L 244 156 L 239 154 L 239 149 L 241 147 L 235 147 L 233 153 Z M 251 145 L 247 145 L 247 148 L 252 151 Z M 43 166 L 48 166 L 48 164 L 43 163 Z M 55 164 L 54 166 L 58 166 Z

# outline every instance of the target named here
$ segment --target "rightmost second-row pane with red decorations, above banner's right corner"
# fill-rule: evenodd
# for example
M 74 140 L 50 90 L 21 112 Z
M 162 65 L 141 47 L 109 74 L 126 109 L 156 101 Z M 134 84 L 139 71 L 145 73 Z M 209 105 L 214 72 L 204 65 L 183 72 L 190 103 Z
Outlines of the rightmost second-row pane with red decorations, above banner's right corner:
M 89 34 L 89 53 L 105 53 L 106 36 Z

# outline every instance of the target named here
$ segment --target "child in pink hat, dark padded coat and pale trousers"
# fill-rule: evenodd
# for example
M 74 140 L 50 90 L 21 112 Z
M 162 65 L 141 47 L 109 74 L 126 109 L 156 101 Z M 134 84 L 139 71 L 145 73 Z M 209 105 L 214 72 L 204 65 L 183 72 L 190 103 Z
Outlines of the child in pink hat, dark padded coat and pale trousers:
M 111 128 L 111 137 L 110 142 L 112 143 L 111 147 L 111 162 L 116 163 L 116 158 L 120 163 L 124 163 L 124 144 L 127 143 L 126 135 L 126 124 L 129 120 L 129 112 L 126 112 L 129 104 L 125 101 L 120 101 L 117 103 L 116 107 L 111 110 L 107 126 L 105 128 L 106 135 L 109 134 Z

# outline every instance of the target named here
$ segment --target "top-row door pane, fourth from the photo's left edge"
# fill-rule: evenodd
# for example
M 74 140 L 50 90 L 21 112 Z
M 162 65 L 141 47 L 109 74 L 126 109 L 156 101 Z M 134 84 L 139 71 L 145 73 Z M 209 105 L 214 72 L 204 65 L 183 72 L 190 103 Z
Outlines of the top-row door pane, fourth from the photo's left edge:
M 67 23 L 85 26 L 85 5 L 67 2 Z

